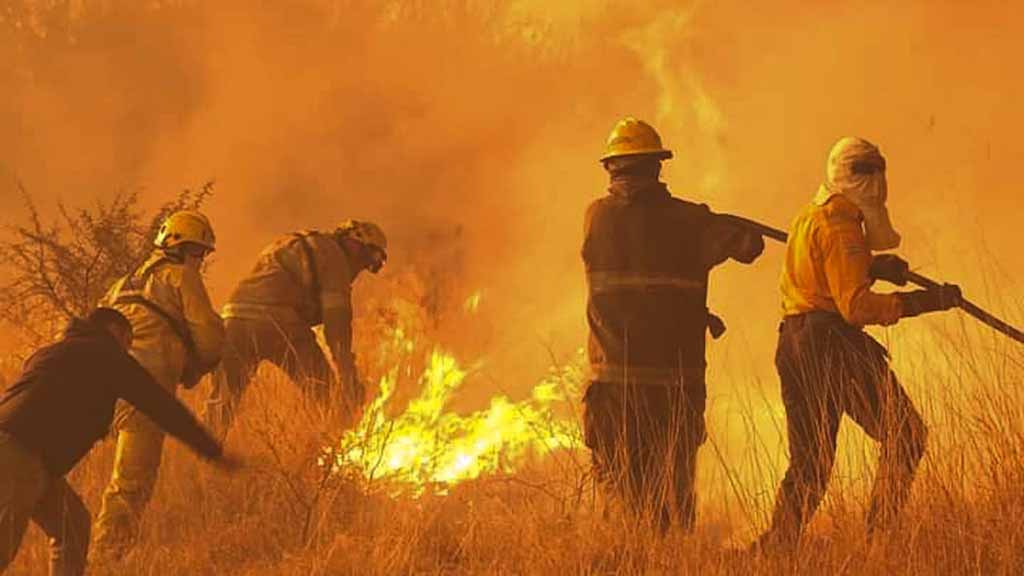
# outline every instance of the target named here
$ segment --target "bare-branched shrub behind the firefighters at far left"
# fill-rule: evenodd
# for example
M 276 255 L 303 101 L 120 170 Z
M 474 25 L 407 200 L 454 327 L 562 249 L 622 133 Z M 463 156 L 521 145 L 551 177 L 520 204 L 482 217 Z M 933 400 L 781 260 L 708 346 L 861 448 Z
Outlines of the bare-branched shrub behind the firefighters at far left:
M 164 218 L 195 210 L 213 194 L 208 181 L 184 190 L 146 217 L 137 192 L 119 192 L 110 202 L 70 208 L 44 222 L 20 184 L 28 222 L 9 227 L 0 239 L 7 281 L 0 286 L 0 321 L 18 328 L 32 342 L 48 339 L 70 318 L 83 316 L 120 277 L 137 269 L 153 249 Z

